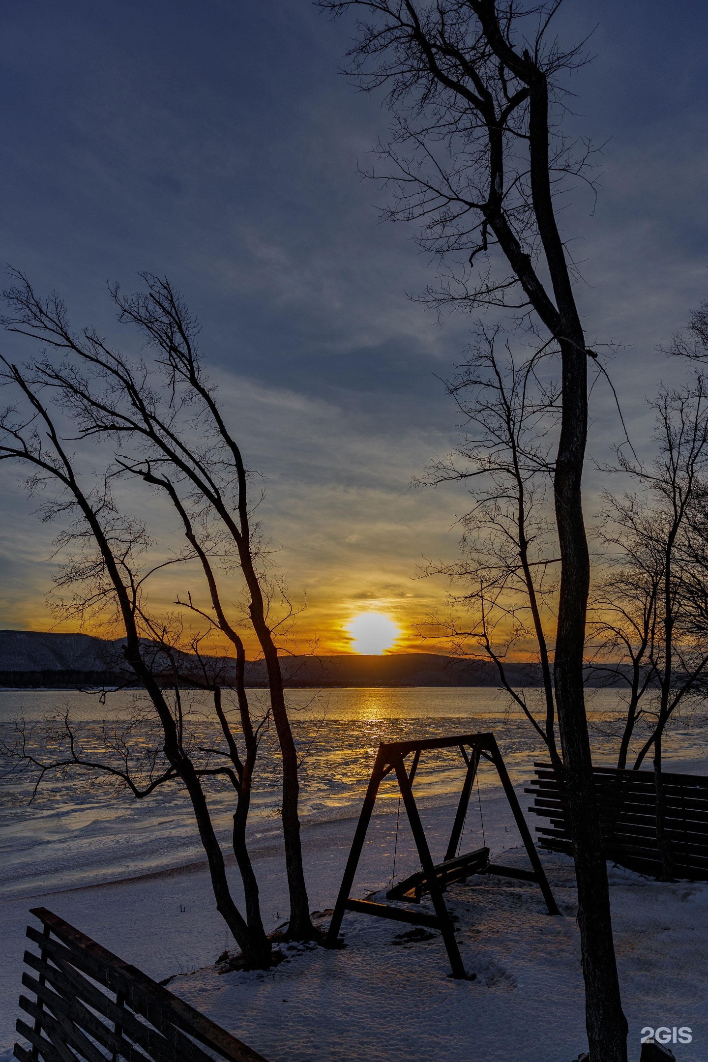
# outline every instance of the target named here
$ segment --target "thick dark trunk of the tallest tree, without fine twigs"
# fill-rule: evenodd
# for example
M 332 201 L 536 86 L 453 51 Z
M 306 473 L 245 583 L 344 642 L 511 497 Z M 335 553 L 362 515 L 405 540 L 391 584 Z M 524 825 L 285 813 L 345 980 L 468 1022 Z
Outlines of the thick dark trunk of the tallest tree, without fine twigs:
M 590 1060 L 626 1062 L 627 1022 L 622 1011 L 615 959 L 607 864 L 592 775 L 583 682 L 585 622 L 590 584 L 581 493 L 587 441 L 588 355 L 553 210 L 547 80 L 528 52 L 521 58 L 506 45 L 493 0 L 472 0 L 472 6 L 500 59 L 530 87 L 532 202 L 551 276 L 555 307 L 542 288 L 542 294 L 538 291 L 541 286 L 531 262 L 528 256 L 520 253 L 518 241 L 506 230 L 508 226 L 495 226 L 493 219 L 489 220 L 530 301 L 560 346 L 563 410 L 554 475 L 555 515 L 562 560 L 554 667 L 556 707 L 577 879 L 577 924 L 581 930 Z

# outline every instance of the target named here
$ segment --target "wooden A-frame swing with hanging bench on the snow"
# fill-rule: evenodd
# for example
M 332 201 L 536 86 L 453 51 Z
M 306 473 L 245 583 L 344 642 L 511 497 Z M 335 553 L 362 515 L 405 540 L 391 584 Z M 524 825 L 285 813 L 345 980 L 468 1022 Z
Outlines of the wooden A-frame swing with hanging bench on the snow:
M 427 749 L 459 749 L 467 766 L 465 781 L 460 795 L 460 803 L 452 825 L 452 833 L 448 842 L 445 859 L 443 862 L 434 863 L 428 847 L 426 834 L 420 822 L 420 816 L 413 795 L 413 780 L 420 763 L 420 755 Z M 413 754 L 410 768 L 405 766 L 405 759 Z M 477 776 L 477 769 L 480 759 L 484 758 L 497 768 L 499 780 L 504 788 L 506 800 L 514 815 L 516 825 L 521 835 L 521 840 L 525 845 L 531 861 L 531 870 L 520 870 L 516 867 L 502 867 L 498 863 L 489 862 L 489 849 L 477 849 L 465 855 L 456 856 L 455 852 L 462 838 L 467 815 L 467 805 Z M 375 904 L 369 900 L 352 900 L 349 895 L 353 884 L 355 874 L 359 864 L 359 858 L 366 839 L 366 830 L 372 819 L 374 805 L 378 795 L 379 786 L 387 774 L 395 772 L 400 787 L 401 798 L 408 815 L 408 820 L 413 833 L 418 856 L 420 857 L 421 870 L 407 877 L 403 881 L 394 885 L 386 893 L 387 900 L 403 901 L 405 903 L 419 903 L 421 895 L 430 893 L 435 913 L 429 914 L 425 911 L 411 910 L 408 907 L 392 907 L 387 904 Z M 504 766 L 499 747 L 494 734 L 459 734 L 454 737 L 429 738 L 422 741 L 391 741 L 381 742 L 374 763 L 374 770 L 364 798 L 364 804 L 359 817 L 357 832 L 351 842 L 351 851 L 342 878 L 342 885 L 336 897 L 332 921 L 329 924 L 326 944 L 329 947 L 338 946 L 338 938 L 342 928 L 342 920 L 345 911 L 357 911 L 359 914 L 374 914 L 377 918 L 393 919 L 396 922 L 408 922 L 414 926 L 425 926 L 429 929 L 438 929 L 443 935 L 445 947 L 447 948 L 453 977 L 465 978 L 465 966 L 460 955 L 460 948 L 454 937 L 454 927 L 450 913 L 445 905 L 443 893 L 449 885 L 455 881 L 466 881 L 472 874 L 498 874 L 503 877 L 520 878 L 523 881 L 535 881 L 543 894 L 549 914 L 559 914 L 556 907 L 551 887 L 541 866 L 538 853 L 534 847 L 531 833 L 526 825 L 523 812 L 514 792 L 514 786 Z

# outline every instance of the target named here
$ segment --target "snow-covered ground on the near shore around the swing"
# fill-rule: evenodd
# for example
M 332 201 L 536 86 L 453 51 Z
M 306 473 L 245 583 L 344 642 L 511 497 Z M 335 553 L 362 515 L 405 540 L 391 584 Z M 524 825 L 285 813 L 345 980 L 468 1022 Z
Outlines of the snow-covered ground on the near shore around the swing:
M 451 810 L 424 809 L 435 857 L 444 851 Z M 493 857 L 523 866 L 525 854 L 503 796 L 485 792 L 483 811 Z M 333 904 L 355 824 L 347 818 L 304 829 L 313 910 Z M 374 818 L 356 894 L 387 886 L 395 825 L 395 813 Z M 463 845 L 481 843 L 481 823 L 470 810 Z M 264 919 L 275 927 L 287 914 L 282 852 L 267 842 L 255 855 Z M 570 860 L 545 856 L 543 861 L 563 918 L 549 918 L 534 885 L 512 879 L 471 878 L 447 893 L 460 920 L 464 961 L 477 974 L 471 981 L 447 976 L 437 933 L 411 941 L 402 936 L 407 926 L 358 914 L 345 917 L 343 950 L 295 947 L 272 972 L 220 975 L 214 959 L 232 942 L 200 864 L 6 900 L 0 904 L 0 1050 L 14 1039 L 28 908 L 45 906 L 151 976 L 176 975 L 171 991 L 272 1062 L 570 1062 L 586 1047 L 574 881 Z M 401 825 L 396 873 L 415 869 L 412 841 Z M 660 885 L 612 868 L 610 881 L 629 1058 L 639 1058 L 644 1026 L 689 1026 L 691 1044 L 671 1047 L 677 1059 L 705 1062 L 708 885 Z M 327 918 L 321 922 L 326 925 Z

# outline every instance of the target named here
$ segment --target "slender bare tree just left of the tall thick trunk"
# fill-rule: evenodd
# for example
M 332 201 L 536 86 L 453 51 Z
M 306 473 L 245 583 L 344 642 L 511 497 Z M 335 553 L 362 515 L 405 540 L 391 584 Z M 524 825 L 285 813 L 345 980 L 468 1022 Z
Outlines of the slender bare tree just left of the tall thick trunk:
M 461 559 L 425 569 L 449 577 L 453 604 L 464 605 L 472 620 L 464 630 L 450 621 L 450 635 L 464 644 L 471 639 L 493 661 L 502 686 L 562 770 L 547 633 L 555 623 L 557 592 L 549 568 L 559 561 L 548 512 L 558 395 L 553 379 L 542 375 L 547 357 L 547 352 L 534 353 L 517 364 L 501 329 L 482 328 L 447 384 L 465 418 L 463 443 L 426 469 L 420 482 L 464 482 L 473 498 L 462 517 Z M 515 688 L 507 674 L 510 654 L 529 640 L 541 673 L 542 722 L 526 690 Z

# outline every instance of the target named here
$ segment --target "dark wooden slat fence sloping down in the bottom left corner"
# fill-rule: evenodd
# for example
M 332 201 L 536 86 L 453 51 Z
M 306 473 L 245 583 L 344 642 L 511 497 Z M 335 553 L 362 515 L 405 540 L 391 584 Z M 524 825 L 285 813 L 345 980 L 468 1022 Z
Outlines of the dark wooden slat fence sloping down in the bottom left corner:
M 16 1028 L 31 1044 L 15 1044 L 19 1062 L 265 1062 L 56 914 L 30 913 L 44 930 L 27 930 L 38 954 L 24 953 L 22 984 L 34 998 L 19 1000 L 29 1022 Z

